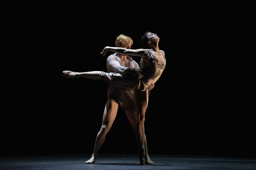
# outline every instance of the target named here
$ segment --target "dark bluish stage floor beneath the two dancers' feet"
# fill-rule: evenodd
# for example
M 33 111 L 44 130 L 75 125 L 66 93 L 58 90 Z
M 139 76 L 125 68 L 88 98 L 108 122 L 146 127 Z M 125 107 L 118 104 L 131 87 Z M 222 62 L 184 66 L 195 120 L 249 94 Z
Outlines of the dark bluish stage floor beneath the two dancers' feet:
M 86 154 L 52 154 L 1 156 L 0 169 L 256 169 L 254 158 L 209 156 L 150 155 L 154 165 L 140 165 L 137 155 L 99 154 L 96 162 L 85 164 L 91 158 Z

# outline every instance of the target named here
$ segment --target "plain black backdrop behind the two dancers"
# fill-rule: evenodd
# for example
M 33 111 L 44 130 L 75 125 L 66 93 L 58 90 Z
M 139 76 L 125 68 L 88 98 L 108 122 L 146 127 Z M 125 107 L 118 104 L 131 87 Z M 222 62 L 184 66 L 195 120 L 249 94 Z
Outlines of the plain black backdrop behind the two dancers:
M 167 62 L 145 117 L 149 154 L 255 156 L 250 2 L 2 3 L 1 154 L 92 154 L 108 85 L 62 71 L 107 71 L 105 46 L 123 33 L 140 48 L 151 31 Z M 135 148 L 120 110 L 99 154 Z

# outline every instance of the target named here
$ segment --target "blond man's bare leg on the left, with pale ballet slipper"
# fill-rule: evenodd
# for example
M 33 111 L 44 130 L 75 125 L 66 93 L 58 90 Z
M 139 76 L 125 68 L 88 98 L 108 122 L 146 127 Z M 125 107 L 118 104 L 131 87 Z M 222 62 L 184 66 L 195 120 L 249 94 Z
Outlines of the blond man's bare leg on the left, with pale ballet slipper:
M 98 132 L 93 154 L 91 155 L 91 158 L 87 160 L 85 163 L 94 163 L 96 156 L 98 154 L 99 149 L 101 148 L 101 145 L 103 144 L 106 134 L 110 130 L 118 111 L 118 104 L 112 100 L 108 100 L 104 109 L 104 114 L 102 118 L 102 125 L 101 130 Z

